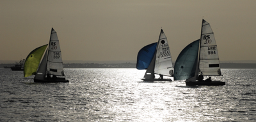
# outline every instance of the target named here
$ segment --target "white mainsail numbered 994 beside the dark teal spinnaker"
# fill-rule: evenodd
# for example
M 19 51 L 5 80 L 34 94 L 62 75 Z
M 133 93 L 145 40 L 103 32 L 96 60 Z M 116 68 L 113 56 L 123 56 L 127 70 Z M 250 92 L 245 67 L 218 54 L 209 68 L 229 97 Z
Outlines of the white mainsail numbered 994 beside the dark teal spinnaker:
M 217 44 L 211 26 L 204 19 L 200 38 L 199 74 L 204 76 L 220 76 L 220 60 Z

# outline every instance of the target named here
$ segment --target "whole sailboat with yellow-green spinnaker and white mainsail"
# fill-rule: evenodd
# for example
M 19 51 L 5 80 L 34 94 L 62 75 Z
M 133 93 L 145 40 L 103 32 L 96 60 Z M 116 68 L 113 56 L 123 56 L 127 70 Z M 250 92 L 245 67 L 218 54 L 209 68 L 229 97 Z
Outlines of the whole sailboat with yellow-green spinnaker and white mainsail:
M 63 71 L 60 43 L 53 28 L 49 44 L 31 51 L 25 60 L 24 77 L 33 74 L 35 74 L 34 82 L 68 82 Z

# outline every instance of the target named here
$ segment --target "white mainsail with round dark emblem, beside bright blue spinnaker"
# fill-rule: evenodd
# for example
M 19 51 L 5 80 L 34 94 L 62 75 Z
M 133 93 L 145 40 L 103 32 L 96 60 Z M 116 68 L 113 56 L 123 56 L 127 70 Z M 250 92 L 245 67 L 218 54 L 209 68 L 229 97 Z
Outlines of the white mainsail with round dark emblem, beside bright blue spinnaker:
M 161 29 L 157 43 L 155 73 L 164 76 L 173 76 L 172 56 L 163 29 Z

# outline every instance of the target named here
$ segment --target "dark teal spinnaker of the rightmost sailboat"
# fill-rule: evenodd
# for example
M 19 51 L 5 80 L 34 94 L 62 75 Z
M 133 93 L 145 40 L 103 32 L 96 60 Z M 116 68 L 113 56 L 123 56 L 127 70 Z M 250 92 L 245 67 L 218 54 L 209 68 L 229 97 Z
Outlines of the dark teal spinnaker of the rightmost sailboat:
M 195 76 L 198 60 L 199 40 L 193 41 L 184 48 L 174 65 L 174 80 L 184 80 Z

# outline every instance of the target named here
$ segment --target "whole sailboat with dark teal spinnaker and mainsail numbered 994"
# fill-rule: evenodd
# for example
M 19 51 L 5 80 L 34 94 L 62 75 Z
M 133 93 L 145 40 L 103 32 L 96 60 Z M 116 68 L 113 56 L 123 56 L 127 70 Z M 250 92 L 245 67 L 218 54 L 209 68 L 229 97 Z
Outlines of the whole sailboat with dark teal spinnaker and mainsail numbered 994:
M 210 24 L 204 19 L 200 39 L 188 44 L 180 52 L 175 62 L 173 78 L 186 79 L 187 86 L 225 85 L 221 81 L 206 82 L 203 76 L 222 76 L 216 40 Z

